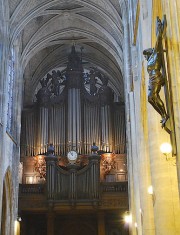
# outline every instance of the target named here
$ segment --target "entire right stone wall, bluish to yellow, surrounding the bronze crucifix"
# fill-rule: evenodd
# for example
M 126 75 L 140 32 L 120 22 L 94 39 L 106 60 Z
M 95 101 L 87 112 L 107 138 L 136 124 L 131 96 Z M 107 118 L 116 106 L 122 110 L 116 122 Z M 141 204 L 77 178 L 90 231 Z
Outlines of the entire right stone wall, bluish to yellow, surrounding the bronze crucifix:
M 174 109 L 175 136 L 179 140 L 179 28 L 178 1 L 128 1 L 130 67 L 126 69 L 126 110 L 129 143 L 130 205 L 133 217 L 132 234 L 178 234 L 177 218 L 180 216 L 178 177 L 179 146 L 177 155 L 167 160 L 160 152 L 163 142 L 171 142 L 170 135 L 161 128 L 160 115 L 147 101 L 148 73 L 143 50 L 153 48 L 156 42 L 156 17 L 167 18 L 167 47 L 165 64 L 167 76 L 171 78 L 171 106 Z M 133 7 L 133 8 L 132 8 Z M 125 30 L 124 30 L 125 33 Z M 165 42 L 163 41 L 163 46 Z M 127 49 L 125 51 L 127 55 Z M 129 85 L 128 85 L 129 84 Z M 163 102 L 165 94 L 161 89 Z M 153 186 L 153 194 L 148 187 Z M 137 223 L 137 229 L 133 228 Z

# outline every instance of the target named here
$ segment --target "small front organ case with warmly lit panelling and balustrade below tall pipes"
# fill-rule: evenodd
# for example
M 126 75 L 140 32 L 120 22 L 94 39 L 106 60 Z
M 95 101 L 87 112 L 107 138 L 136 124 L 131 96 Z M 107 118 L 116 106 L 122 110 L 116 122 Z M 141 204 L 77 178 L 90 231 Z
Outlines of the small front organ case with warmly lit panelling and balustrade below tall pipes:
M 107 166 L 104 166 L 106 154 L 102 157 L 93 153 L 72 160 L 72 157 L 58 158 L 53 151 L 24 161 L 19 188 L 20 210 L 32 209 L 32 204 L 33 208 L 47 209 L 51 203 L 54 207 L 66 205 L 67 208 L 72 205 L 128 207 L 125 155 L 108 153 L 107 172 Z

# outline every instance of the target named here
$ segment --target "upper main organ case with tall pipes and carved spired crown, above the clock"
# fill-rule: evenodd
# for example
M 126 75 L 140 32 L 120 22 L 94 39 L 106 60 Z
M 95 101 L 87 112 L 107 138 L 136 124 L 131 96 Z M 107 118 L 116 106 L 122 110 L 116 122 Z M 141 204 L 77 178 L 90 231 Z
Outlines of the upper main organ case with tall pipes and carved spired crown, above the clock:
M 104 152 L 125 153 L 124 105 L 114 102 L 108 78 L 98 69 L 83 70 L 72 46 L 66 69 L 40 80 L 36 102 L 22 115 L 21 156 L 55 154 L 74 149 L 90 154 L 93 142 Z

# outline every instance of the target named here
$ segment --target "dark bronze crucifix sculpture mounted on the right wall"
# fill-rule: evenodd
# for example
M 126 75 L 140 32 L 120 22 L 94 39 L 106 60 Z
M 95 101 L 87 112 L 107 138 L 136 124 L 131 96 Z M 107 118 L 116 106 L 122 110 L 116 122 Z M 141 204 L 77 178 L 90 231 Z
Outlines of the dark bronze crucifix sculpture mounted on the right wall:
M 166 16 L 163 16 L 161 21 L 157 17 L 156 22 L 156 45 L 155 48 L 146 49 L 143 51 L 147 59 L 147 71 L 149 73 L 149 94 L 148 101 L 154 109 L 161 115 L 162 128 L 170 134 L 172 153 L 176 155 L 176 137 L 172 98 L 171 74 L 168 68 L 168 41 L 166 36 L 167 21 Z M 160 98 L 159 92 L 164 86 L 165 104 Z M 166 111 L 167 110 L 167 111 Z

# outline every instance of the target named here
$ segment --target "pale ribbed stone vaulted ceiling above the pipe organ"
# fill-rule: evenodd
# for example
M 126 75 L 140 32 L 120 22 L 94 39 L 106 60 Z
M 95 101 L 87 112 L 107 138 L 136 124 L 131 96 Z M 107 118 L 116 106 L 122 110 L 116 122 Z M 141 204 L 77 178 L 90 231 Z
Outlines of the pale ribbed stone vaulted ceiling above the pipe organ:
M 66 66 L 72 44 L 84 67 L 97 67 L 123 100 L 124 0 L 9 0 L 11 42 L 21 44 L 25 102 L 30 103 L 39 80 Z

